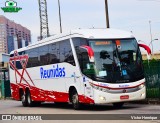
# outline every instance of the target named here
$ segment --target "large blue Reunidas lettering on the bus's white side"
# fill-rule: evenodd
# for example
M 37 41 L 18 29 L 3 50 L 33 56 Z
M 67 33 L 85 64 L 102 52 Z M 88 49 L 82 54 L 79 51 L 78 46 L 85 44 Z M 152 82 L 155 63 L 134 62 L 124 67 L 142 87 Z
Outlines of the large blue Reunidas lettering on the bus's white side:
M 56 66 L 56 67 L 55 67 Z M 65 68 L 60 68 L 58 65 L 53 65 L 53 68 L 45 70 L 43 67 L 40 68 L 41 79 L 46 78 L 58 78 L 65 77 Z

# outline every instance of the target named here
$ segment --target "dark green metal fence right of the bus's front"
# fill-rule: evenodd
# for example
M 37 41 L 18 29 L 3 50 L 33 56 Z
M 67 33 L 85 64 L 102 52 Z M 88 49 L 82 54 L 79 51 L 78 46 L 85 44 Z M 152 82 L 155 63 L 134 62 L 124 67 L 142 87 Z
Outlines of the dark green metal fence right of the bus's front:
M 144 61 L 147 98 L 160 99 L 160 60 Z

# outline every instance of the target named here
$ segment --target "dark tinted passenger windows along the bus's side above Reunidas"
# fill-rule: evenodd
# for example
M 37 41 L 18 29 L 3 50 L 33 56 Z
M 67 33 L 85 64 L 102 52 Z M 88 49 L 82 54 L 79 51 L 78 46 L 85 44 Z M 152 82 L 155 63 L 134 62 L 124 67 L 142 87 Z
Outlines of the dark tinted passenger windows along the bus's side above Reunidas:
M 25 52 L 19 52 L 19 55 L 24 54 L 28 54 L 29 56 L 27 68 L 62 62 L 75 65 L 69 40 L 29 49 Z M 13 54 L 11 54 L 10 57 L 13 57 Z M 16 66 L 18 69 L 22 69 L 20 61 L 16 62 Z

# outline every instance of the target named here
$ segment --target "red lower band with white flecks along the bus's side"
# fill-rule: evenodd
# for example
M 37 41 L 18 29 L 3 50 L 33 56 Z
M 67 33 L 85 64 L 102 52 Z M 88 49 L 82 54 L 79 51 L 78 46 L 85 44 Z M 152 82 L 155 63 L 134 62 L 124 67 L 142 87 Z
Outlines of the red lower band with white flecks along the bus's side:
M 47 102 L 69 102 L 69 93 L 43 90 L 34 86 L 26 84 L 11 83 L 12 97 L 19 100 L 19 89 L 28 87 L 30 89 L 31 98 L 33 101 L 47 101 Z M 86 104 L 94 104 L 94 100 L 84 95 L 78 95 L 79 102 Z

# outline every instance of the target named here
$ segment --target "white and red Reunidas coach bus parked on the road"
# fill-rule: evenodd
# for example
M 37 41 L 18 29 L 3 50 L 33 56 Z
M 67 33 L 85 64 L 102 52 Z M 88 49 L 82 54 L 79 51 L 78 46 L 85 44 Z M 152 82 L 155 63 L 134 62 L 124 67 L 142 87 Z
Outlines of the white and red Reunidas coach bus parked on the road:
M 139 45 L 130 32 L 79 29 L 10 53 L 12 97 L 41 102 L 106 104 L 146 97 Z

